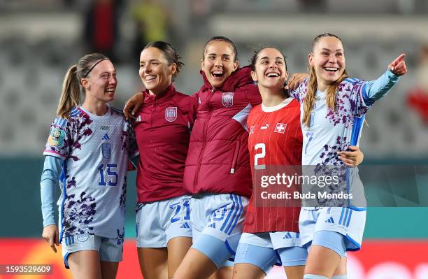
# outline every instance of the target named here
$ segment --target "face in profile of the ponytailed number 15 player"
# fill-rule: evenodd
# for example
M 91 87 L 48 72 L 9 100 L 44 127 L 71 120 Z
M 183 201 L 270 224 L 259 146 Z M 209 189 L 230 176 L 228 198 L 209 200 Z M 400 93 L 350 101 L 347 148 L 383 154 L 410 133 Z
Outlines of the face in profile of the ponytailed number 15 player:
M 95 62 L 97 63 L 97 62 Z M 85 99 L 94 101 L 113 101 L 117 86 L 116 69 L 110 60 L 99 62 L 87 78 L 82 79 L 85 88 Z

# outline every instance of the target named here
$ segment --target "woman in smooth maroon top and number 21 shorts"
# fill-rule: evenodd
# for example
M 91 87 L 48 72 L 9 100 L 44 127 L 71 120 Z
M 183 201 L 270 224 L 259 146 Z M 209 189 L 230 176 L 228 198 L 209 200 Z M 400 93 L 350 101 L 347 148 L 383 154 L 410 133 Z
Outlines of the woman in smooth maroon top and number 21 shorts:
M 178 59 L 176 50 L 162 41 L 146 45 L 140 56 L 146 90 L 134 124 L 140 152 L 136 232 L 145 279 L 171 278 L 192 245 L 183 173 L 197 103 L 172 84 L 183 65 Z

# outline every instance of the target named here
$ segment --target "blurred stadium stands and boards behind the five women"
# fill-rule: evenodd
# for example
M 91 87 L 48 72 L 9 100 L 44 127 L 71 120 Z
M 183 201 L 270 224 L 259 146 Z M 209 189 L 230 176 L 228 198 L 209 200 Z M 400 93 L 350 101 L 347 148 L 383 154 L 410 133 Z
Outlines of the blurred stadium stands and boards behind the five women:
M 70 276 L 61 256 L 38 240 L 39 182 L 62 80 L 86 53 L 112 59 L 113 106 L 122 108 L 143 89 L 138 59 L 150 41 L 169 41 L 183 57 L 176 88 L 187 94 L 201 86 L 201 51 L 211 36 L 231 38 L 241 66 L 254 50 L 275 45 L 296 73 L 307 69 L 313 38 L 330 32 L 343 39 L 350 76 L 366 80 L 406 52 L 408 75 L 366 117 L 363 164 L 428 165 L 427 15 L 427 0 L 0 0 L 0 264 L 53 264 L 55 275 L 46 278 Z M 129 181 L 118 278 L 140 276 L 135 173 Z M 349 253 L 349 278 L 428 278 L 427 214 L 421 207 L 369 208 L 362 251 Z M 269 278 L 285 275 L 274 269 Z

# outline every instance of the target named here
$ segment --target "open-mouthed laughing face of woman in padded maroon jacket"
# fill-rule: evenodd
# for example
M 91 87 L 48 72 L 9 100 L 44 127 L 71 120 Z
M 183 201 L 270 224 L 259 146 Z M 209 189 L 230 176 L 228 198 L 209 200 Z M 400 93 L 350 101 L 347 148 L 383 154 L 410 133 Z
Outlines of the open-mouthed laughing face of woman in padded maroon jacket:
M 209 43 L 206 46 L 204 59 L 201 61 L 201 68 L 213 87 L 222 87 L 231 73 L 238 69 L 232 46 L 224 41 Z

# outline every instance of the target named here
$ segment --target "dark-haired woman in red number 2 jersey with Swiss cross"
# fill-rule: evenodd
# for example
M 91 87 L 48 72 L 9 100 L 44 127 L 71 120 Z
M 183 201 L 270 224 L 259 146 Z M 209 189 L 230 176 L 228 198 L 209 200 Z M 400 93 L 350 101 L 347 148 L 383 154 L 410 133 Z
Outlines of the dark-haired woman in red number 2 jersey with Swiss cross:
M 283 88 L 288 73 L 280 50 L 255 52 L 251 69 L 262 103 L 248 116 L 253 193 L 236 251 L 234 278 L 264 278 L 276 262 L 285 267 L 287 278 L 302 278 L 307 252 L 299 247 L 300 202 L 290 197 L 272 199 L 267 193 L 277 189 L 259 183 L 264 176 L 301 165 L 299 103 Z M 292 193 L 293 188 L 278 190 Z

